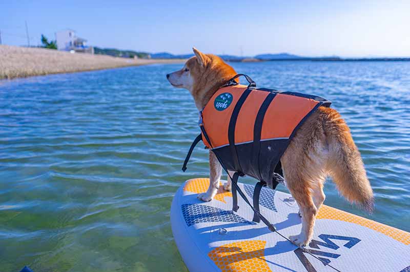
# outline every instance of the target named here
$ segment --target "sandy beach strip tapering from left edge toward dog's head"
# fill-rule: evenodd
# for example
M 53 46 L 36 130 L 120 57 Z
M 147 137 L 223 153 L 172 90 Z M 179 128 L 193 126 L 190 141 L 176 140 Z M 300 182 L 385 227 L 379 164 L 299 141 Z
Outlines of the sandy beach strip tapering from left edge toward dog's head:
M 0 79 L 183 62 L 185 60 L 134 60 L 108 55 L 71 54 L 53 49 L 0 45 Z

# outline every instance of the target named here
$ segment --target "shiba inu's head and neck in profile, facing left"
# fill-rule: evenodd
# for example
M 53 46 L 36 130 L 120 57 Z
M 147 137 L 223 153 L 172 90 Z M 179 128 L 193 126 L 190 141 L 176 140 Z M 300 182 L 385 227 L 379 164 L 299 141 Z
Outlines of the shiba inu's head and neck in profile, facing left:
M 235 76 L 236 72 L 219 56 L 204 54 L 196 48 L 193 51 L 195 56 L 181 70 L 167 74 L 167 79 L 172 86 L 189 90 L 196 106 L 201 109 L 213 92 Z

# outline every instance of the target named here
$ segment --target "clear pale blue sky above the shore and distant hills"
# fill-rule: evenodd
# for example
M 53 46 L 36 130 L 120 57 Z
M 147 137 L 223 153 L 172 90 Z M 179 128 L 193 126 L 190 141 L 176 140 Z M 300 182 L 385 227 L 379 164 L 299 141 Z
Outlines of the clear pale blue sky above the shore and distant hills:
M 410 1 L 1 1 L 3 44 L 71 28 L 146 52 L 410 56 Z

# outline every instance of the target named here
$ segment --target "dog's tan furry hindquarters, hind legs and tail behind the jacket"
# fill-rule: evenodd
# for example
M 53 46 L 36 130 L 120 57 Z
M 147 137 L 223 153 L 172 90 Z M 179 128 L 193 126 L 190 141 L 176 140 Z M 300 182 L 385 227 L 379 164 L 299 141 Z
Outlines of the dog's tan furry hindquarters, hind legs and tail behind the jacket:
M 286 186 L 299 205 L 302 232 L 292 237 L 306 245 L 312 239 L 315 217 L 324 201 L 323 182 L 332 176 L 339 192 L 368 211 L 373 190 L 350 129 L 332 108 L 319 107 L 295 133 L 281 158 Z

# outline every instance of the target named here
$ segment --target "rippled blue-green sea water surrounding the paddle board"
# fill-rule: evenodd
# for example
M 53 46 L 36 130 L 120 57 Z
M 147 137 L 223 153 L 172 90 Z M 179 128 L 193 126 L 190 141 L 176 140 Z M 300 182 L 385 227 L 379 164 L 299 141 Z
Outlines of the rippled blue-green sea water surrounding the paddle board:
M 410 231 L 410 63 L 234 63 L 260 87 L 321 95 L 351 127 L 376 197 Z M 180 184 L 208 175 L 187 90 L 153 65 L 0 81 L 0 271 L 186 271 L 172 237 Z M 252 183 L 251 179 L 246 182 Z M 281 186 L 281 185 L 280 185 Z M 280 190 L 286 190 L 280 187 Z

